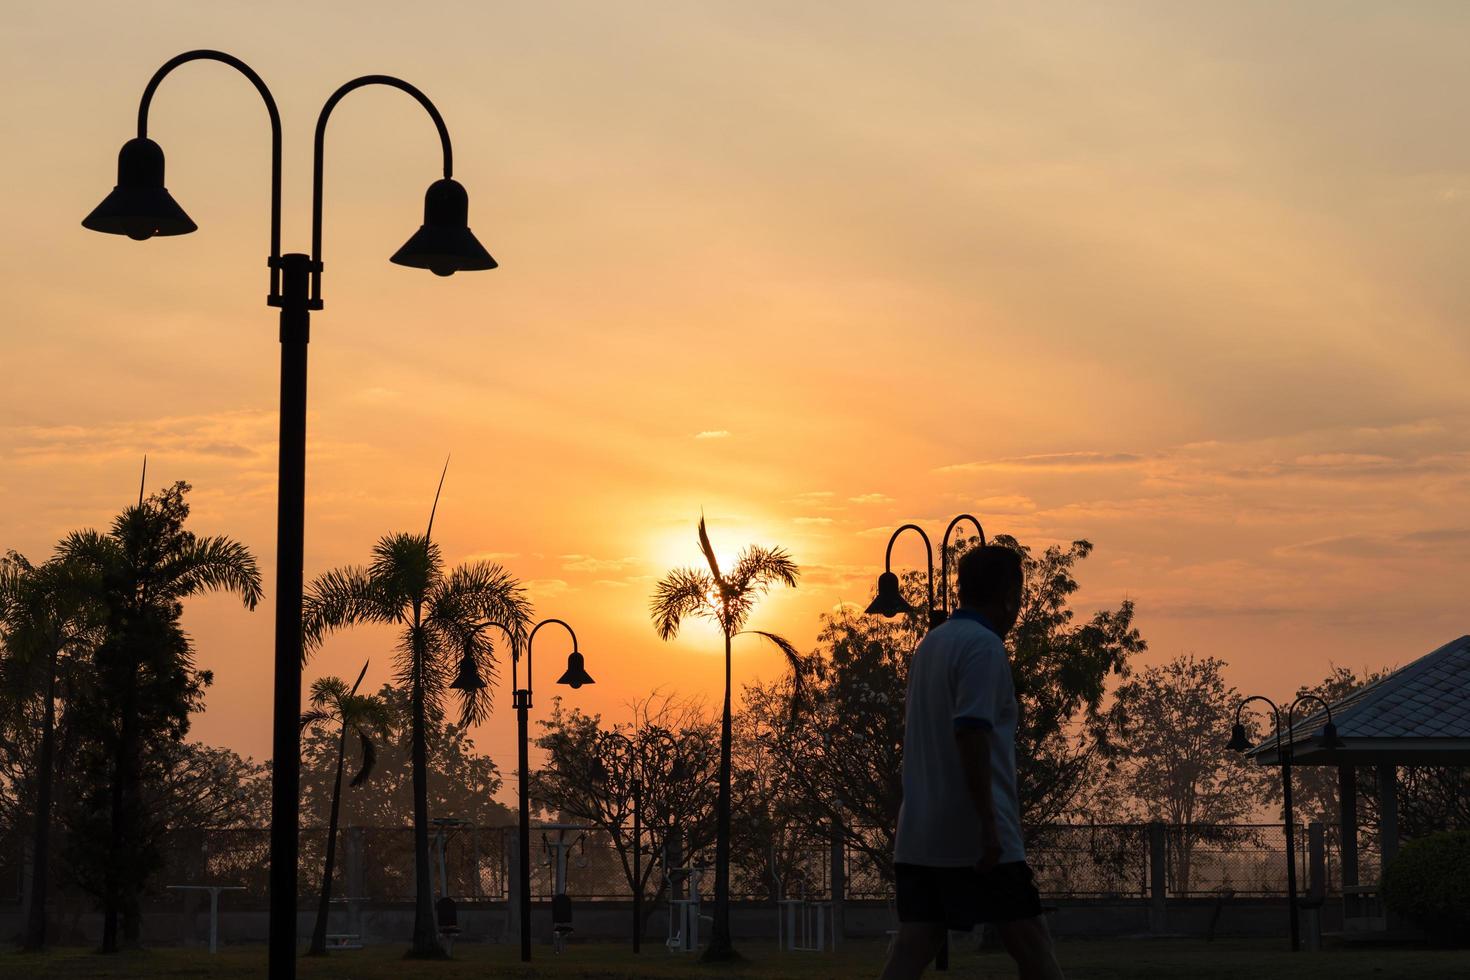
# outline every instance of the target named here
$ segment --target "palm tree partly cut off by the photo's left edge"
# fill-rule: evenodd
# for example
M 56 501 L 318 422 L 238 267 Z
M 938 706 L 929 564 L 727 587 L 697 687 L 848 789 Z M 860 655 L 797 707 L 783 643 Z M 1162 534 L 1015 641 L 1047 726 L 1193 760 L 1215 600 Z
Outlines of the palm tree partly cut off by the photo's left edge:
M 51 849 L 59 673 L 100 638 L 94 583 L 75 563 L 32 566 L 15 551 L 0 558 L 0 692 L 16 710 L 41 696 L 41 743 L 35 760 L 35 829 L 31 839 L 31 908 L 22 948 L 46 948 L 46 892 Z M 63 660 L 65 658 L 65 660 Z

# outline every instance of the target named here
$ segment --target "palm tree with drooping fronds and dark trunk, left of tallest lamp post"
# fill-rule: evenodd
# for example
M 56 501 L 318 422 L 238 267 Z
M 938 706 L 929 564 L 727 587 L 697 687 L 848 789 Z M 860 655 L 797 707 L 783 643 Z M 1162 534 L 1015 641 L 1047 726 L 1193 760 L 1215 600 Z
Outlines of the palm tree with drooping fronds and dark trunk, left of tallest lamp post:
M 200 538 L 184 527 L 190 485 L 179 480 L 128 507 L 107 533 L 76 530 L 62 539 L 56 557 L 84 570 L 97 585 L 106 610 L 93 666 L 93 688 L 110 717 L 104 726 L 112 751 L 110 833 L 103 868 L 103 952 L 118 951 L 118 915 L 135 939 L 141 920 L 135 851 L 147 842 L 140 799 L 141 749 L 146 736 L 187 729 L 188 704 L 178 679 L 193 670 L 193 645 L 179 624 L 185 598 L 234 592 L 253 610 L 260 601 L 260 572 L 250 551 L 225 536 Z M 144 730 L 144 724 L 154 730 Z

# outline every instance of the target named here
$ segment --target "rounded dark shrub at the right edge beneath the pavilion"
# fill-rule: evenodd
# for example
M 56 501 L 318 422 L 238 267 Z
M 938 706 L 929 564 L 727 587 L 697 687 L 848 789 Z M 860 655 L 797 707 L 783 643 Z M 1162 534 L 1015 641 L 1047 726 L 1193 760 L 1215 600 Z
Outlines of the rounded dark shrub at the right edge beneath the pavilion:
M 1383 905 L 1432 942 L 1470 945 L 1470 830 L 1405 843 L 1383 868 Z

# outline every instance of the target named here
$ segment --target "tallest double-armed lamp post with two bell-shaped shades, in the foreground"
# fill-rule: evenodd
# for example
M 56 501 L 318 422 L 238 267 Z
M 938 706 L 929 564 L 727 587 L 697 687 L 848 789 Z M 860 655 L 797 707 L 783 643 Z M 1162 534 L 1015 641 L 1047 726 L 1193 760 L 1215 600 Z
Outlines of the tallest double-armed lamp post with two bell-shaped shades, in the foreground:
M 322 309 L 322 160 L 326 120 L 348 93 L 365 85 L 388 85 L 412 96 L 429 113 L 440 134 L 444 178 L 429 185 L 423 225 L 391 262 L 447 276 L 460 270 L 494 269 L 495 260 L 467 225 L 465 188 L 454 179 L 450 134 L 434 103 L 417 88 L 391 75 L 363 75 L 341 85 L 316 119 L 312 167 L 312 254 L 281 253 L 281 113 L 270 90 L 248 65 L 232 54 L 194 50 L 163 63 L 138 104 L 138 135 L 118 154 L 118 184 L 82 219 L 90 231 L 146 241 L 187 235 L 194 220 L 163 184 L 163 148 L 148 138 L 148 109 L 159 84 L 188 62 L 220 62 L 244 75 L 260 93 L 270 118 L 270 292 L 266 306 L 281 310 L 281 441 L 276 501 L 275 696 L 270 785 L 270 977 L 295 976 L 297 835 L 300 830 L 301 751 L 301 566 L 306 510 L 306 345 L 312 310 Z

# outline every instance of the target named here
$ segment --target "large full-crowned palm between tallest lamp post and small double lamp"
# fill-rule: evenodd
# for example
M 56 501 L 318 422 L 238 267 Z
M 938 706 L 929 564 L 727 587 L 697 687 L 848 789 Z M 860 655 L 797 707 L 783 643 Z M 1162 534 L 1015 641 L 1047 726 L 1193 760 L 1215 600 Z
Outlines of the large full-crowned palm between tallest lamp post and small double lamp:
M 442 711 L 456 670 L 484 679 L 481 688 L 459 689 L 460 724 L 475 724 L 490 714 L 497 676 L 490 624 L 501 623 L 512 635 L 522 636 L 531 605 L 520 583 L 498 564 L 473 561 L 445 572 L 444 555 L 429 532 L 387 535 L 372 555 L 368 567 L 328 572 L 307 589 L 306 649 L 315 651 L 329 633 L 359 623 L 388 623 L 398 629 L 394 670 L 409 691 L 413 774 L 415 905 L 409 955 L 442 958 L 429 865 L 426 716 Z

